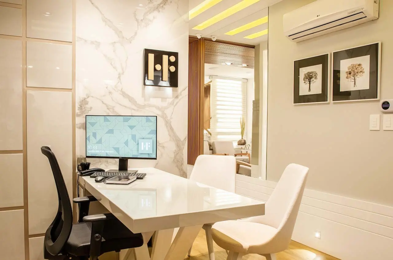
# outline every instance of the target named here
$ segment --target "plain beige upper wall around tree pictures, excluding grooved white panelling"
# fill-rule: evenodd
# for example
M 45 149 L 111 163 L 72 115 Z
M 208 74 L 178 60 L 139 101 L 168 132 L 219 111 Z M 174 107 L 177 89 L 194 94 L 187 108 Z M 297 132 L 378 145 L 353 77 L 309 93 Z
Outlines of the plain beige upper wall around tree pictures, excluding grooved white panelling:
M 381 98 L 393 97 L 393 1 L 380 1 L 380 18 L 294 43 L 283 34 L 283 14 L 310 0 L 269 8 L 267 179 L 278 181 L 290 162 L 310 168 L 307 188 L 393 206 L 392 131 L 369 131 L 379 101 L 292 105 L 293 60 L 382 42 Z

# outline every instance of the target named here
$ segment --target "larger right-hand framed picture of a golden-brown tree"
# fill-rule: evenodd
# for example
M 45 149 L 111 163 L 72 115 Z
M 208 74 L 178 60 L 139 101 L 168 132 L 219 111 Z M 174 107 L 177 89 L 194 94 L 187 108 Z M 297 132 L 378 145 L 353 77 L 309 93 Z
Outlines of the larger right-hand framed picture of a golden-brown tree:
M 333 52 L 332 101 L 378 100 L 381 43 Z

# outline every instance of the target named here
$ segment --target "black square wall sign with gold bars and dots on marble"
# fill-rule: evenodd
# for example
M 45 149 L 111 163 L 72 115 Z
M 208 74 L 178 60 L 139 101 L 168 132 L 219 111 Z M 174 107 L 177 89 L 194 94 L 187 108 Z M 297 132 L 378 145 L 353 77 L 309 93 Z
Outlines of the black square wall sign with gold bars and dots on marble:
M 178 87 L 178 52 L 144 50 L 145 86 Z

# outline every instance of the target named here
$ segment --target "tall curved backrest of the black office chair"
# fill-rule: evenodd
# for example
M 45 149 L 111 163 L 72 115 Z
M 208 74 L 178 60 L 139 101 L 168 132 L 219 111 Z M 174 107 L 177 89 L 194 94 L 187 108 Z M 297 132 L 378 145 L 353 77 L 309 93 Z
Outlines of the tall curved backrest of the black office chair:
M 55 178 L 57 195 L 59 196 L 59 208 L 57 209 L 55 219 L 46 230 L 44 245 L 51 255 L 58 255 L 70 237 L 72 229 L 72 207 L 55 154 L 47 146 L 42 146 L 41 152 L 48 157 L 53 177 Z

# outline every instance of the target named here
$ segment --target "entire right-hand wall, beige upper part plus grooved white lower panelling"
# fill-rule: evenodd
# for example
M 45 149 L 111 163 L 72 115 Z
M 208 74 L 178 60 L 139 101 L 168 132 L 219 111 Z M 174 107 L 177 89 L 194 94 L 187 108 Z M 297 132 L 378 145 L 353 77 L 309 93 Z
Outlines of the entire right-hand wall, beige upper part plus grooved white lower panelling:
M 269 8 L 267 179 L 237 176 L 236 192 L 267 200 L 291 162 L 310 168 L 292 239 L 342 260 L 391 259 L 393 132 L 369 131 L 378 101 L 292 105 L 293 60 L 382 42 L 381 98 L 393 97 L 393 2 L 380 18 L 305 42 L 283 35 L 283 14 L 312 0 Z M 314 238 L 321 231 L 321 239 Z

